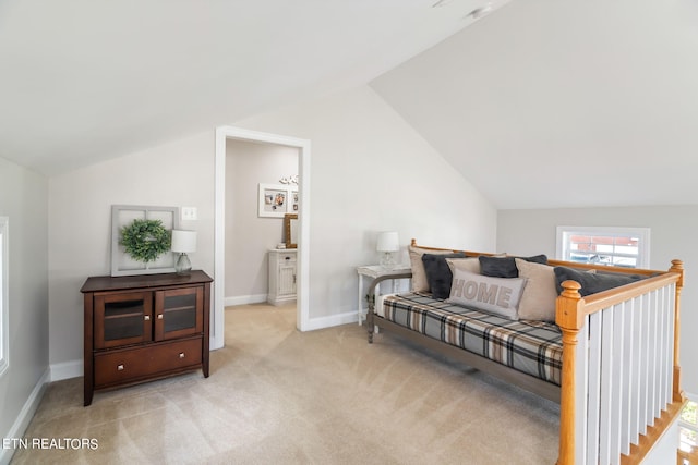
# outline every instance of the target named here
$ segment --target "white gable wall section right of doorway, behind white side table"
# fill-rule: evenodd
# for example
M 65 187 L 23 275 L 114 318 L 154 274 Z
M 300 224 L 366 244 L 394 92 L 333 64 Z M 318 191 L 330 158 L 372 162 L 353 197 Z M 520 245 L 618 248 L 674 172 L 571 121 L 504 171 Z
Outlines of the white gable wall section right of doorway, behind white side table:
M 368 86 L 236 125 L 312 142 L 311 318 L 356 311 L 356 267 L 377 262 L 378 231 L 494 246 L 493 207 Z

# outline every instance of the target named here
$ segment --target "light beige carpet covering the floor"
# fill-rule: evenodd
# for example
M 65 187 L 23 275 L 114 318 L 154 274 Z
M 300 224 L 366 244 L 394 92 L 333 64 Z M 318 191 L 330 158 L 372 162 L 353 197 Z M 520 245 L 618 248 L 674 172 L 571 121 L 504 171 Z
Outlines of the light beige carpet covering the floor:
M 558 405 L 390 334 L 301 333 L 293 306 L 226 310 L 201 372 L 110 392 L 52 383 L 25 437 L 96 450 L 17 450 L 13 464 L 553 464 Z

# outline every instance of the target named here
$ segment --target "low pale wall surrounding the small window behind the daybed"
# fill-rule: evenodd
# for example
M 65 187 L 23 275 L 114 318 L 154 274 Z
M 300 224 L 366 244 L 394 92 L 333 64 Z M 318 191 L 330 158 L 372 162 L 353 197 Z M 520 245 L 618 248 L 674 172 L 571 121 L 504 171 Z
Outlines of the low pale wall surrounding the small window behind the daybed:
M 669 269 L 684 260 L 686 283 L 682 293 L 682 387 L 698 394 L 698 206 L 500 210 L 497 250 L 521 255 L 544 253 L 555 257 L 558 225 L 650 228 L 650 268 Z

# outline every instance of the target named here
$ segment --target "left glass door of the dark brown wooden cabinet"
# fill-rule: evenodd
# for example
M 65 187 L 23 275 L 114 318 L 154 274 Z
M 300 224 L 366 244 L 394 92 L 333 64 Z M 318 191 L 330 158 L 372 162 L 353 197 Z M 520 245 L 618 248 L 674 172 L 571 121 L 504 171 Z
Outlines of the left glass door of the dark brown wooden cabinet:
M 152 340 L 153 294 L 135 292 L 95 296 L 96 348 Z

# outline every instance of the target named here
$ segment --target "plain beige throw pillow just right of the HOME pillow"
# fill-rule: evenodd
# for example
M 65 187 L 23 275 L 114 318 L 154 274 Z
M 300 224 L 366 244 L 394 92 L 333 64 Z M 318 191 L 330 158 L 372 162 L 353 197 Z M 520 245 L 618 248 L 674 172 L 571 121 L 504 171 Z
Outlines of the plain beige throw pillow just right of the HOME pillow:
M 519 277 L 526 279 L 526 289 L 519 302 L 522 320 L 555 321 L 557 283 L 555 269 L 547 265 L 516 259 Z

